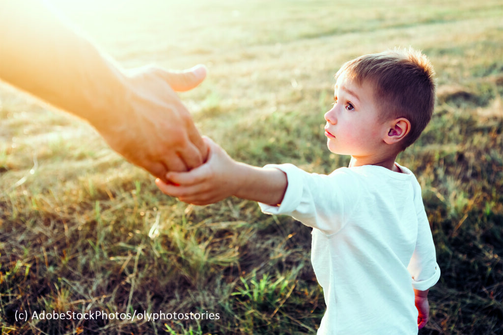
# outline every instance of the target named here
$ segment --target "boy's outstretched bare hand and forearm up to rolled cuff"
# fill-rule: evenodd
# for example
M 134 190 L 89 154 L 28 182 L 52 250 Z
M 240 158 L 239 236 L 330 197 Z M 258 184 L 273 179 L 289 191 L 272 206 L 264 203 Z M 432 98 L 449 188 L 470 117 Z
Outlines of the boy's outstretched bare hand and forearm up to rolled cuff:
M 212 140 L 208 146 L 208 160 L 189 172 L 169 172 L 167 184 L 155 180 L 167 195 L 196 205 L 218 202 L 231 195 L 271 205 L 281 203 L 288 185 L 286 174 L 275 168 L 259 168 L 238 163 Z

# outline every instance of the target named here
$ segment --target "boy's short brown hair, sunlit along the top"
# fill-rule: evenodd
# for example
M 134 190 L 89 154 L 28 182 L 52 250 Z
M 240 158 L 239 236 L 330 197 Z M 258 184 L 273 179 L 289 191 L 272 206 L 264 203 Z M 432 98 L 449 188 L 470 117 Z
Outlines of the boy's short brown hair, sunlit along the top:
M 358 84 L 370 80 L 374 99 L 382 105 L 381 113 L 410 122 L 402 150 L 414 143 L 430 122 L 435 108 L 435 71 L 421 51 L 394 49 L 360 56 L 346 62 L 336 79 L 341 74 Z

